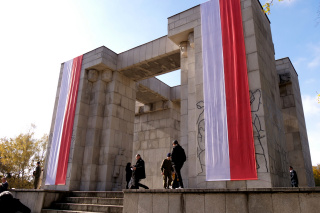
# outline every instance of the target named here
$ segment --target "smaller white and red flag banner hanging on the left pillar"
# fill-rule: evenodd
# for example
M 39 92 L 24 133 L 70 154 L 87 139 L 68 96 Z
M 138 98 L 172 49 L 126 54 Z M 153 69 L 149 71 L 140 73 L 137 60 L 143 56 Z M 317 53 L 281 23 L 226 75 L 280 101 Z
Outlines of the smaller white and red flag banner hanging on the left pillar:
M 56 120 L 46 171 L 46 185 L 66 184 L 81 65 L 82 55 L 63 65 Z

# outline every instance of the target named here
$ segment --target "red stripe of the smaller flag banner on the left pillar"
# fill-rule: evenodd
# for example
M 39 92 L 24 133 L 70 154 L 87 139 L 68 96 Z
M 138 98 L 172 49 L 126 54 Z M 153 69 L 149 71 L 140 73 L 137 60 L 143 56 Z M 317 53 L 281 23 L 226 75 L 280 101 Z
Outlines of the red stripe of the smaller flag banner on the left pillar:
M 72 129 L 79 89 L 82 55 L 73 59 L 66 112 L 61 135 L 60 153 L 57 167 L 56 185 L 65 185 L 68 169 L 68 159 L 71 145 Z

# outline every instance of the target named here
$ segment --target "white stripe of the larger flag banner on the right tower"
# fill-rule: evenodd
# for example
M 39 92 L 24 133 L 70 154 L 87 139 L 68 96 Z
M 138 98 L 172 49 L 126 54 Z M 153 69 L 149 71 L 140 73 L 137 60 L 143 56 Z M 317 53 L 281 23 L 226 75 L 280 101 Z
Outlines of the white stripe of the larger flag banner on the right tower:
M 206 180 L 230 180 L 219 0 L 201 4 Z

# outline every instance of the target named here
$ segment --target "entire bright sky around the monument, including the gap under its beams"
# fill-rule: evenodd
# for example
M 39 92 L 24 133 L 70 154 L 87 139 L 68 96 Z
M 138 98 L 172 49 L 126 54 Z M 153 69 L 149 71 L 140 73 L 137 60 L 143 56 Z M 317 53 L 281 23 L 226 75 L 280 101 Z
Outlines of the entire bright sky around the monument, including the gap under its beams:
M 0 2 L 0 137 L 49 132 L 60 64 L 102 45 L 120 53 L 167 34 L 167 18 L 204 0 L 17 0 Z M 319 0 L 285 0 L 269 19 L 276 58 L 300 79 L 313 165 L 320 163 Z M 179 83 L 175 73 L 167 82 Z

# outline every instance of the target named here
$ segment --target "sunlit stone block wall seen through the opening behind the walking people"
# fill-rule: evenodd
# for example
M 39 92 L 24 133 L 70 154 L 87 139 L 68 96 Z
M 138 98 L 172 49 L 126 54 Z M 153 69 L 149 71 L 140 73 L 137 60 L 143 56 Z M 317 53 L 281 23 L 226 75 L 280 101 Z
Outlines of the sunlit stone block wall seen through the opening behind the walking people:
M 180 106 L 170 101 L 160 101 L 137 108 L 134 123 L 133 157 L 140 154 L 145 161 L 146 176 L 142 183 L 152 189 L 161 189 L 160 166 L 167 153 L 172 151 L 172 141 L 179 140 Z

